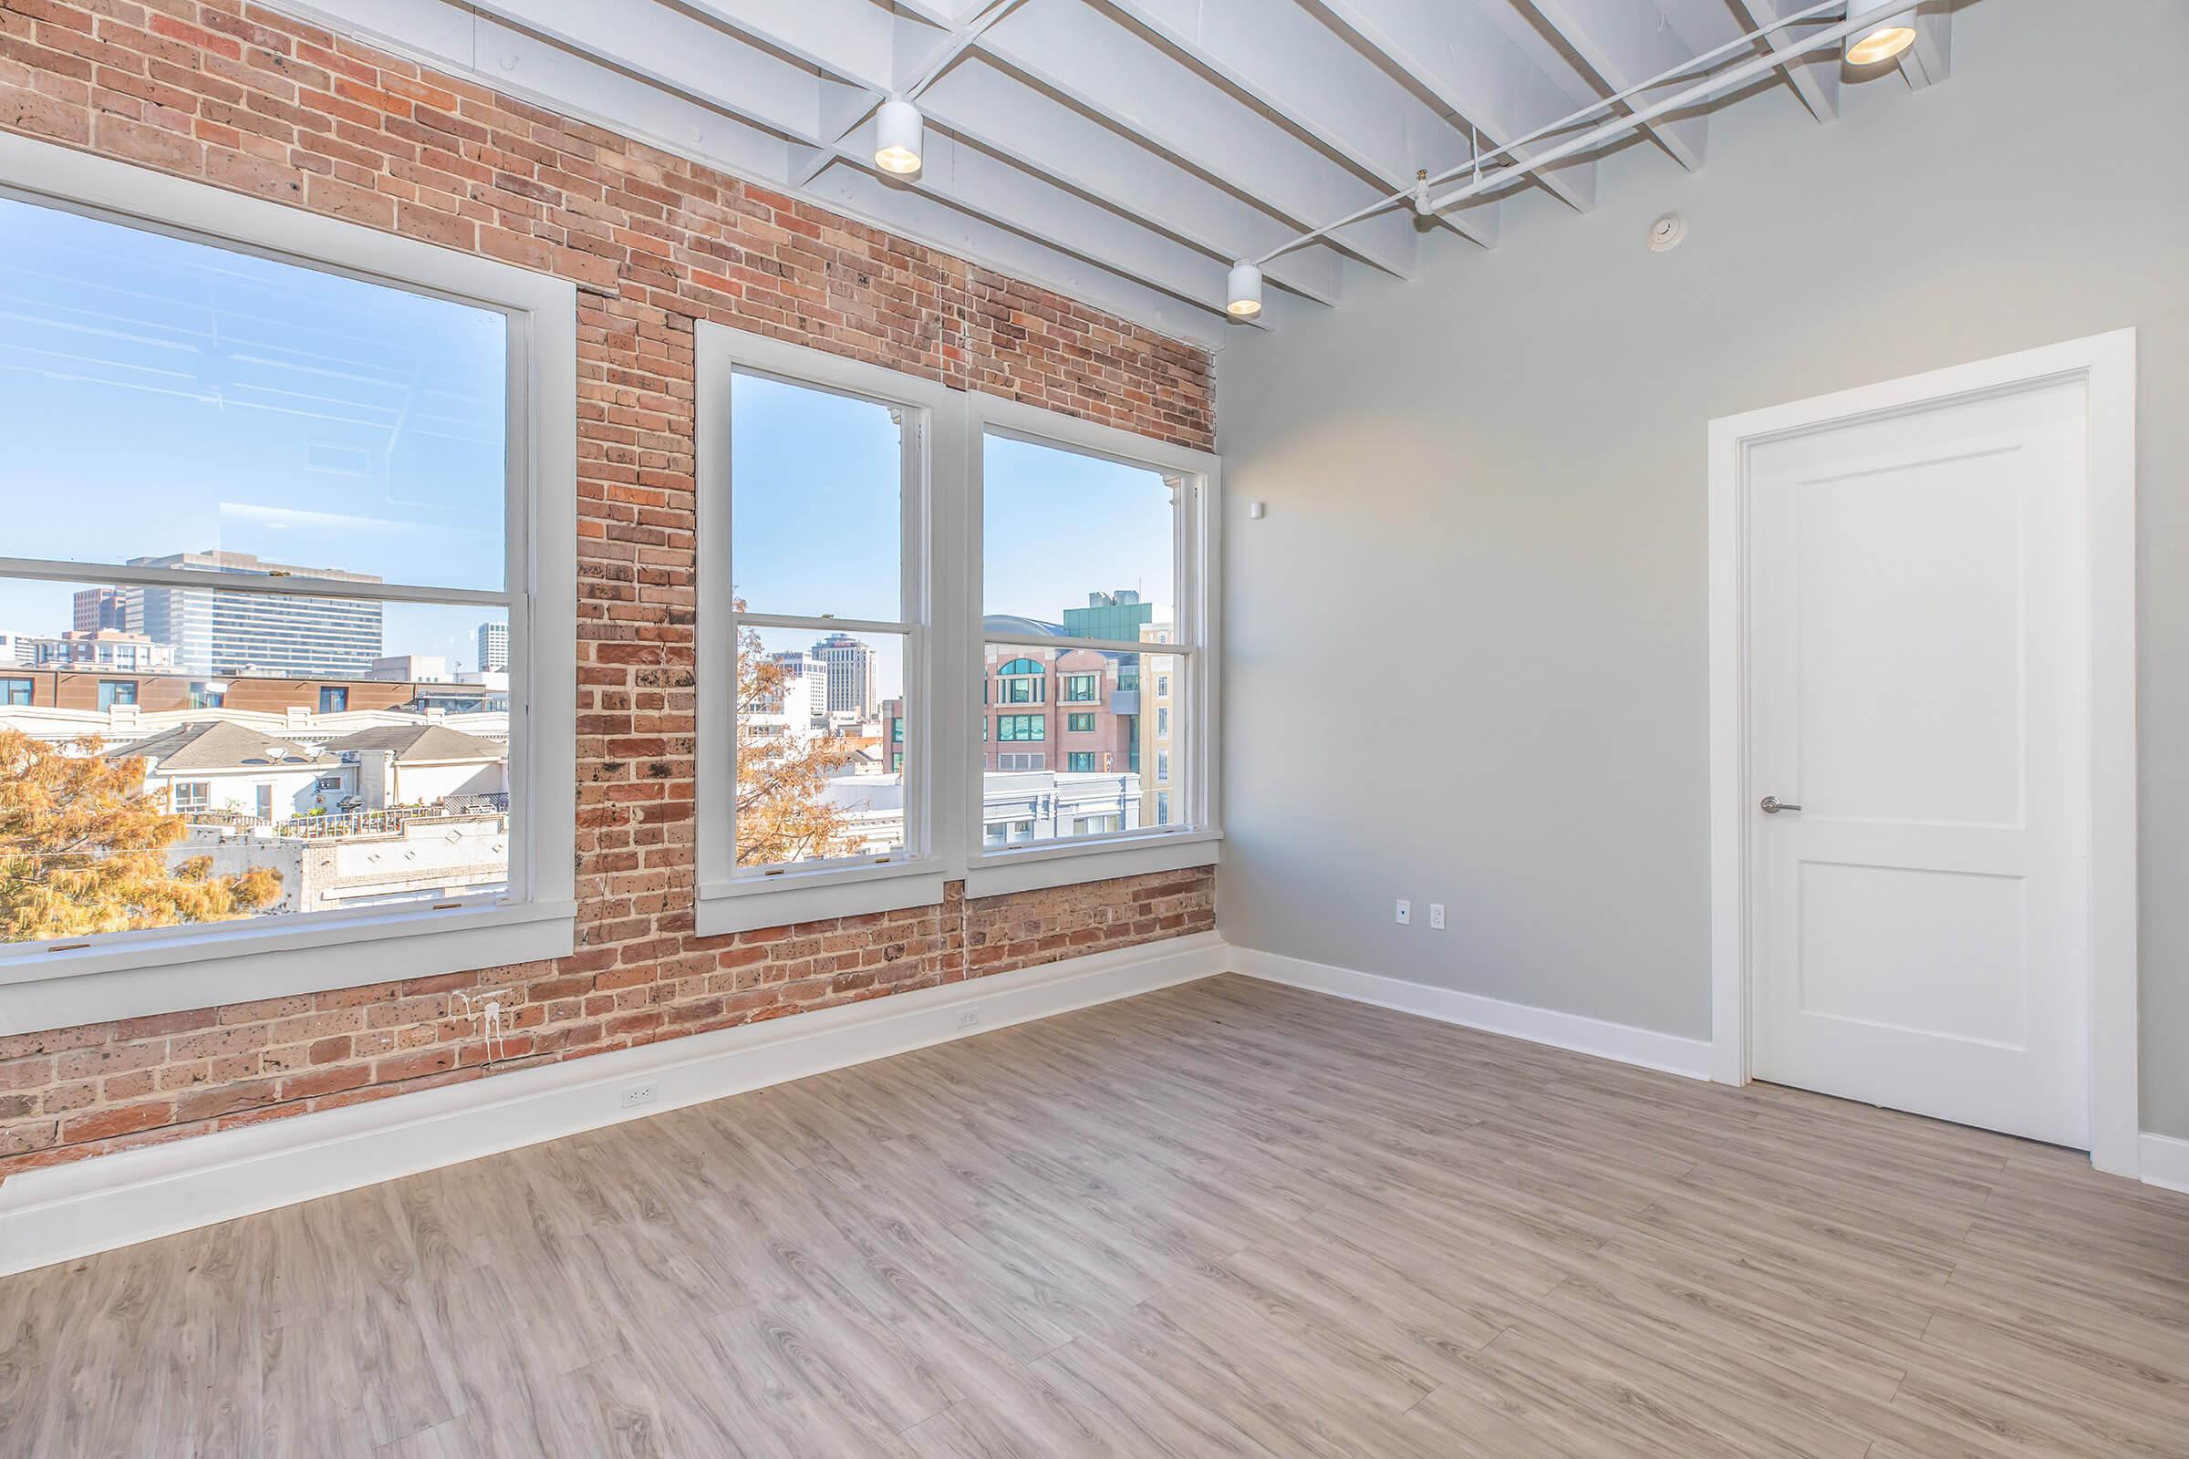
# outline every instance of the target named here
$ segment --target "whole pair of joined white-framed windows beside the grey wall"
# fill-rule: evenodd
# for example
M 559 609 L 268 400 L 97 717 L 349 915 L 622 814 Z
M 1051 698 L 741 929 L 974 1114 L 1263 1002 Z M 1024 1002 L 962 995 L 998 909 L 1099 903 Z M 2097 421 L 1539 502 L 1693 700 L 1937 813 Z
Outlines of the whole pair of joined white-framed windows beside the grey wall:
M 709 322 L 696 354 L 703 934 L 1215 860 L 1215 457 Z

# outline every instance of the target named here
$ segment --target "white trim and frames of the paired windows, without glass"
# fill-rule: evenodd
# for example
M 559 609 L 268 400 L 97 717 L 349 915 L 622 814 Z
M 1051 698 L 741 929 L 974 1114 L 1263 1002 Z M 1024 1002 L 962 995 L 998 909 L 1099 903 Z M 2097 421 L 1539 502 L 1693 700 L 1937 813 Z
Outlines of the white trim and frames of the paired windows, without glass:
M 858 917 L 935 906 L 943 884 L 965 882 L 968 897 L 1068 886 L 1156 871 L 1208 866 L 1217 860 L 1217 569 L 1221 479 L 1217 457 L 1169 446 L 1112 427 L 1090 424 L 992 396 L 948 389 L 939 381 L 847 361 L 821 350 L 700 322 L 696 339 L 698 413 L 698 912 L 700 934 L 777 927 L 825 917 Z M 738 370 L 795 385 L 897 405 L 922 424 L 924 451 L 906 472 L 902 621 L 849 623 L 906 632 L 906 847 L 891 857 L 845 857 L 816 864 L 740 868 L 736 864 L 736 641 L 744 623 L 823 628 L 821 619 L 738 612 L 731 582 L 731 411 Z M 1182 709 L 1171 744 L 1189 809 L 1167 831 L 1110 831 L 1020 849 L 983 847 L 981 704 L 983 650 L 1009 643 L 983 628 L 981 604 L 981 440 L 1000 431 L 1022 440 L 1158 470 L 1178 481 L 1175 571 L 1178 639 L 1165 652 Z M 915 503 L 917 501 L 917 503 Z M 915 593 L 911 584 L 924 584 Z M 1029 647 L 1101 647 L 1077 639 L 1027 641 Z M 1057 715 L 1066 707 L 1053 704 Z M 1059 720 L 1062 722 L 1062 720 Z M 887 744 L 887 742 L 884 742 Z M 1062 748 L 1042 746 L 1044 755 Z

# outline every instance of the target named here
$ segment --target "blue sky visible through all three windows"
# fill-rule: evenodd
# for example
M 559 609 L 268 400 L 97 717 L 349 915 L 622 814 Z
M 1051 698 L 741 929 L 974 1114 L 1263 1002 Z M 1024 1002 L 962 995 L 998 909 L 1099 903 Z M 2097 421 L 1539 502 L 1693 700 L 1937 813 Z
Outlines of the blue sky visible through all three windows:
M 0 199 L 0 553 L 85 584 L 225 549 L 497 588 L 506 370 L 493 311 Z M 740 376 L 733 411 L 749 604 L 900 617 L 889 409 Z M 1055 621 L 1097 588 L 1167 610 L 1158 475 L 1000 437 L 985 462 L 989 612 Z M 66 630 L 74 586 L 0 580 L 0 630 Z M 475 667 L 484 617 L 390 606 L 385 652 Z

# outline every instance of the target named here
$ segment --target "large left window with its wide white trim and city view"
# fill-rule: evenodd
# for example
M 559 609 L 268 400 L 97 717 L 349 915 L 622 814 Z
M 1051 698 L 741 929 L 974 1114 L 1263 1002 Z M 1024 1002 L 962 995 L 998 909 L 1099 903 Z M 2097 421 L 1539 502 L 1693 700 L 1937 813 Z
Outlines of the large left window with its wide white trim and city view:
M 39 868 L 0 879 L 0 1026 L 569 954 L 574 287 L 0 138 L 0 623 L 125 634 L 0 704 L 0 777 L 85 787 L 83 825 L 0 844 Z M 508 702 L 449 726 L 493 746 L 497 809 L 409 807 L 493 833 L 326 857 L 182 814 L 210 781 L 175 770 L 326 774 L 359 726 L 320 713 L 425 724 L 405 676 Z

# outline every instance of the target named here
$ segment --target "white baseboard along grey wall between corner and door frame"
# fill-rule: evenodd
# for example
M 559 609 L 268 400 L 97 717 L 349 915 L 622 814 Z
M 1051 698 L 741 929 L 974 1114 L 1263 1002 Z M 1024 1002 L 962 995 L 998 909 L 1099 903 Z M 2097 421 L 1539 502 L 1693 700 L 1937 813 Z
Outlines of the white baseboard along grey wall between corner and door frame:
M 1362 973 L 1351 967 L 1331 967 L 1329 962 L 1309 962 L 1252 947 L 1232 947 L 1230 965 L 1235 973 L 1313 993 L 1333 993 L 1357 1004 L 1418 1013 L 1440 1024 L 1502 1032 L 1528 1043 L 1550 1043 L 1552 1048 L 1570 1048 L 1576 1054 L 1635 1063 L 1644 1070 L 1710 1078 L 1710 1039 L 1681 1039 L 1679 1035 L 1633 1028 L 1629 1024 L 1607 1024 L 1605 1019 L 1578 1013 L 1508 1004 L 1497 997 L 1436 989 L 1427 982 Z

